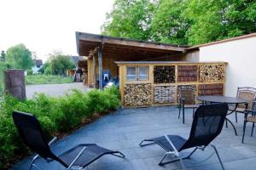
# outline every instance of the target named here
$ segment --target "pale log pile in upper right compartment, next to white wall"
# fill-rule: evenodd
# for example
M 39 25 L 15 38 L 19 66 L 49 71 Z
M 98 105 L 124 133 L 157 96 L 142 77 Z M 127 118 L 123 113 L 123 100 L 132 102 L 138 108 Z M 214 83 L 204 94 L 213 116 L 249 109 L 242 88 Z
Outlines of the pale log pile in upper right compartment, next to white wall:
M 200 65 L 199 82 L 222 82 L 225 76 L 225 65 Z

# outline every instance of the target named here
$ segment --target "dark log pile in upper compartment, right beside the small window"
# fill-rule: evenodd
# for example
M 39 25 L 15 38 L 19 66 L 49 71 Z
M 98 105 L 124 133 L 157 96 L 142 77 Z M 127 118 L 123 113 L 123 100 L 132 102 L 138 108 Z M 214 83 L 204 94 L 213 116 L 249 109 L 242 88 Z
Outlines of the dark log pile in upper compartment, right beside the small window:
M 175 82 L 175 66 L 161 65 L 154 66 L 154 83 L 173 83 Z

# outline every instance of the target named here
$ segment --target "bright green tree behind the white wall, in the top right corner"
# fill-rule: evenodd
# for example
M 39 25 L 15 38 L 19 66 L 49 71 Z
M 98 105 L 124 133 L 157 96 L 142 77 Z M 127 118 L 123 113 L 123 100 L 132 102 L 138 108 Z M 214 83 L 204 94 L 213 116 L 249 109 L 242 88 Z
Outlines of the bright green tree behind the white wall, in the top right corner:
M 256 31 L 256 2 L 189 0 L 186 16 L 193 20 L 189 44 L 222 40 Z

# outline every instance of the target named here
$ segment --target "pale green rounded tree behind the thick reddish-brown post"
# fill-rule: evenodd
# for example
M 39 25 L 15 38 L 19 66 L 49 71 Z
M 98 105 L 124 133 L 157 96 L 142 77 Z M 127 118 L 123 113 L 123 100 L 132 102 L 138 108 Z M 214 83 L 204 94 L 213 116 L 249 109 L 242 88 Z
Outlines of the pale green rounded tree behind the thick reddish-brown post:
M 18 44 L 7 50 L 6 61 L 14 69 L 31 69 L 33 64 L 32 54 L 24 44 Z

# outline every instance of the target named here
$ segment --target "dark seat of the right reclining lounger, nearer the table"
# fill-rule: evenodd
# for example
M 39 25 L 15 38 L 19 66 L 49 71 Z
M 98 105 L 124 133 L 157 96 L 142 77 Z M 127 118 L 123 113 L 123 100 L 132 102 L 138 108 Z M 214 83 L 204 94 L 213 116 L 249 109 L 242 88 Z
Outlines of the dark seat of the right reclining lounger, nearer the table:
M 186 143 L 186 139 L 183 139 L 181 136 L 177 135 L 168 135 L 168 138 L 172 141 L 172 144 L 175 148 L 179 151 L 183 144 Z M 168 142 L 165 136 L 161 136 L 158 138 L 151 139 L 154 141 L 155 144 L 159 144 L 166 151 L 173 151 L 172 145 Z

